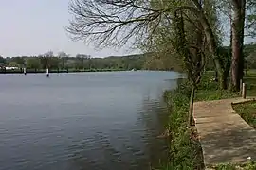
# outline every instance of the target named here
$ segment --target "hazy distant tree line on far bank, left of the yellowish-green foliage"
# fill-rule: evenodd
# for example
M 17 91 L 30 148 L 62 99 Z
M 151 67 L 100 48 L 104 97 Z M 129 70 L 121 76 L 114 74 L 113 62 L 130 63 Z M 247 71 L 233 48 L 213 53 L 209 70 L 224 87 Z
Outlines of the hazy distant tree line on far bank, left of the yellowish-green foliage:
M 136 54 L 128 56 L 110 56 L 105 58 L 92 58 L 90 55 L 77 54 L 72 57 L 64 52 L 54 55 L 53 52 L 46 52 L 38 56 L 1 57 L 1 71 L 6 67 L 17 67 L 19 70 L 27 68 L 33 72 L 46 70 L 51 71 L 94 71 L 94 70 L 167 70 L 161 65 L 149 65 L 147 60 L 151 59 L 150 54 Z

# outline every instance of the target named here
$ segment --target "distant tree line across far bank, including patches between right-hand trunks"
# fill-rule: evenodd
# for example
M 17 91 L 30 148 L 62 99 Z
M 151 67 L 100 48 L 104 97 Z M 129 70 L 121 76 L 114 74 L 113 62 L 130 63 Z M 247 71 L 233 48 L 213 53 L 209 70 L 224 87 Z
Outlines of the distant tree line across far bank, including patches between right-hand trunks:
M 230 58 L 229 47 L 223 48 L 223 54 Z M 245 68 L 256 69 L 256 44 L 247 44 L 244 49 Z M 0 56 L 1 72 L 5 67 L 26 67 L 33 72 L 49 68 L 55 71 L 94 71 L 94 70 L 162 70 L 183 71 L 182 63 L 169 54 L 148 53 L 128 56 L 110 56 L 105 58 L 92 58 L 90 55 L 77 54 L 74 57 L 60 52 L 54 55 L 47 52 L 38 56 Z M 213 60 L 208 60 L 206 70 L 214 70 Z

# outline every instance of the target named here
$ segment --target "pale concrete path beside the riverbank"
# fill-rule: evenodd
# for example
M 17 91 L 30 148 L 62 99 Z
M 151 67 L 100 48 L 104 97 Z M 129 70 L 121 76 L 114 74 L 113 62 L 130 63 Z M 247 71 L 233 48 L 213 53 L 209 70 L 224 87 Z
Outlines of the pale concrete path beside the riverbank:
M 256 129 L 232 109 L 231 103 L 250 99 L 233 98 L 194 103 L 195 126 L 206 166 L 256 161 Z

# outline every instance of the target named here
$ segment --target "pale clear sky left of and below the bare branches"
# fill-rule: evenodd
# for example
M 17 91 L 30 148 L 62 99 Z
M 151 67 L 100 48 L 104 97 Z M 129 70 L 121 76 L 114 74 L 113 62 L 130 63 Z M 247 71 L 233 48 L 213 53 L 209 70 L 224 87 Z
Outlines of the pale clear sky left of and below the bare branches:
M 0 0 L 0 55 L 39 55 L 64 51 L 92 57 L 138 53 L 129 48 L 96 50 L 93 45 L 73 42 L 64 30 L 71 15 L 69 0 Z

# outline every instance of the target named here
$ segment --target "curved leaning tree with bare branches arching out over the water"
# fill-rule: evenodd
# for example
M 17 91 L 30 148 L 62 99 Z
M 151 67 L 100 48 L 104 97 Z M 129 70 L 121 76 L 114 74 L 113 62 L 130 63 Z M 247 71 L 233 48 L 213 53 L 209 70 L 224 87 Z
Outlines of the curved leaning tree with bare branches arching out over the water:
M 69 9 L 74 19 L 66 30 L 73 35 L 73 39 L 95 42 L 98 46 L 124 45 L 132 37 L 133 44 L 150 41 L 162 18 L 173 21 L 169 12 L 192 13 L 202 26 L 208 42 L 210 55 L 218 71 L 220 88 L 225 88 L 223 63 L 218 58 L 217 41 L 206 10 L 198 0 L 73 0 Z

